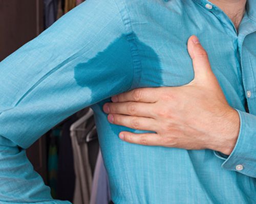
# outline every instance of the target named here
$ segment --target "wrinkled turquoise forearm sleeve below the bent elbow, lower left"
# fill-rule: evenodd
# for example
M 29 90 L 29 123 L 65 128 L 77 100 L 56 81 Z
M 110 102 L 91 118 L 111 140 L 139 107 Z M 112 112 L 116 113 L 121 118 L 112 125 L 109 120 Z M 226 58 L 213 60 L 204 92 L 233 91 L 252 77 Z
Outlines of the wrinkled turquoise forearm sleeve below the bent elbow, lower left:
M 33 170 L 25 149 L 19 149 L 3 136 L 0 136 L 0 186 L 1 203 L 70 203 L 53 200 L 50 188 Z

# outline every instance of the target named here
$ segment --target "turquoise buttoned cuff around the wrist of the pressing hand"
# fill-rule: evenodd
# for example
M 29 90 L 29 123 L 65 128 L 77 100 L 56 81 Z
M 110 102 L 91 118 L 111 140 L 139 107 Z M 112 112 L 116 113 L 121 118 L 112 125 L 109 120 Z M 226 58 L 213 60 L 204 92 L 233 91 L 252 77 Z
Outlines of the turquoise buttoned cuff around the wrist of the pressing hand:
M 219 151 L 214 151 L 214 154 L 224 160 L 221 165 L 223 169 L 256 177 L 256 116 L 237 111 L 240 131 L 236 145 L 229 156 Z

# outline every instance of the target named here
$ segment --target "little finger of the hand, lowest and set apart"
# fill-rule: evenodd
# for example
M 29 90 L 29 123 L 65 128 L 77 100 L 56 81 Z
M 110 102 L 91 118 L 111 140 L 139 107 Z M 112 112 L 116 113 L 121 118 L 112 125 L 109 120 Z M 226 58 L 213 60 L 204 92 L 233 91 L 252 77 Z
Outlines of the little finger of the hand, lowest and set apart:
M 119 137 L 123 141 L 135 143 L 135 144 L 151 145 L 151 146 L 162 145 L 161 136 L 155 133 L 136 134 L 136 133 L 130 133 L 130 132 L 121 132 L 119 134 Z

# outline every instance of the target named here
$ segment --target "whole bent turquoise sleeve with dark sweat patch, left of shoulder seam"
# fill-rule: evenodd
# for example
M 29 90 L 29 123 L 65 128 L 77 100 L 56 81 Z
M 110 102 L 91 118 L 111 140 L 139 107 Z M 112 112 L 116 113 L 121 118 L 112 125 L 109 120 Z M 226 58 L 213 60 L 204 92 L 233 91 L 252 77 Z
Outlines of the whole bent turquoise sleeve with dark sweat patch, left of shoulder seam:
M 114 0 L 87 0 L 0 63 L 0 202 L 53 200 L 25 150 L 54 125 L 133 85 Z

